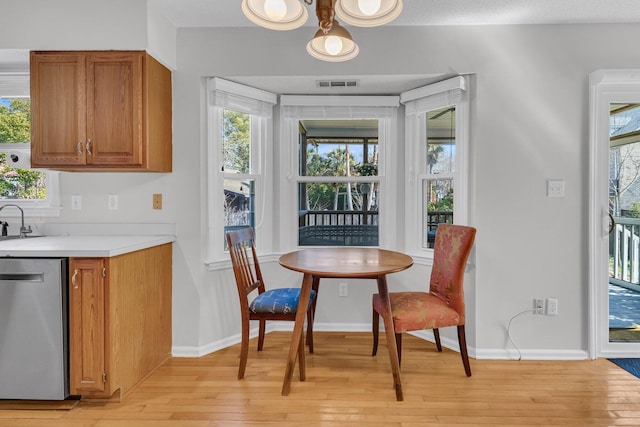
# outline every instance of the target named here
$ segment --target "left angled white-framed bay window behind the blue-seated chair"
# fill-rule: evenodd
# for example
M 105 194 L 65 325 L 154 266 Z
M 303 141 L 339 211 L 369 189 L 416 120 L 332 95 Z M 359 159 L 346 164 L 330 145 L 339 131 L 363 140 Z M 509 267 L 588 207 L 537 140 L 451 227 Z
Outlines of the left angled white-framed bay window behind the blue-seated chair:
M 226 262 L 225 233 L 253 227 L 257 240 L 269 241 L 262 227 L 272 197 L 270 176 L 272 110 L 276 95 L 220 78 L 209 80 L 207 144 L 208 263 Z M 263 247 L 265 245 L 262 245 Z

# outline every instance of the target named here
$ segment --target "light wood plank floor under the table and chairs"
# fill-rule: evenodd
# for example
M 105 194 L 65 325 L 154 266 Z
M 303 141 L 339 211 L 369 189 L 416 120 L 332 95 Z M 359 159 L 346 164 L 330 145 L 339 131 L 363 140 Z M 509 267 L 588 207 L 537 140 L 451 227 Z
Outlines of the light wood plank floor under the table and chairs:
M 316 333 L 307 380 L 296 369 L 281 396 L 288 345 L 288 333 L 271 333 L 258 354 L 252 340 L 241 381 L 236 345 L 169 360 L 123 403 L 0 410 L 0 426 L 640 426 L 640 379 L 606 359 L 472 359 L 467 378 L 458 353 L 405 335 L 397 402 L 386 347 L 371 357 L 365 333 Z

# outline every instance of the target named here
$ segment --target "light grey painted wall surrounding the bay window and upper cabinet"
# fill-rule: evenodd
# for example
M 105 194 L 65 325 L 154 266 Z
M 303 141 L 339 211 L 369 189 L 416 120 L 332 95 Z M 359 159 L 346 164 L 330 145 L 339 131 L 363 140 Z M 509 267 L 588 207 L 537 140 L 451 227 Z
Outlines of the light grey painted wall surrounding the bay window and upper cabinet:
M 0 49 L 149 48 L 146 1 L 60 0 L 55 10 L 50 3 L 2 1 Z M 240 329 L 232 274 L 208 272 L 202 262 L 203 77 L 474 73 L 471 223 L 478 236 L 469 341 L 479 356 L 499 356 L 510 348 L 509 319 L 529 309 L 534 297 L 555 297 L 559 316 L 518 319 L 512 331 L 518 345 L 548 354 L 586 350 L 588 75 L 640 67 L 630 48 L 640 26 L 350 30 L 361 53 L 344 64 L 311 59 L 304 50 L 308 29 L 178 30 L 174 172 L 64 173 L 65 210 L 56 221 L 175 222 L 173 344 L 184 353 L 213 350 L 236 339 Z M 546 197 L 548 178 L 566 181 L 566 197 Z M 165 197 L 159 212 L 151 209 L 155 192 Z M 118 211 L 106 209 L 108 193 L 119 194 Z M 82 211 L 70 211 L 71 194 L 83 196 Z M 277 263 L 264 269 L 274 286 L 299 284 L 297 274 Z M 428 268 L 416 266 L 390 276 L 390 287 L 426 286 L 427 274 Z M 354 283 L 350 296 L 339 299 L 329 282 L 321 289 L 317 322 L 336 329 L 368 325 L 373 289 L 372 283 Z

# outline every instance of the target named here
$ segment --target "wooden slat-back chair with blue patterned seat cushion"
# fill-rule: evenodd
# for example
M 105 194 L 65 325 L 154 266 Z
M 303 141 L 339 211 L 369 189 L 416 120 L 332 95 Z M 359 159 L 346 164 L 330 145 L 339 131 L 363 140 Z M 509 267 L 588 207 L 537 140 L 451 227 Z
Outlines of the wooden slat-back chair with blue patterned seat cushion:
M 258 320 L 258 351 L 262 351 L 267 320 L 285 320 L 294 322 L 300 299 L 299 288 L 276 288 L 267 290 L 260 271 L 255 246 L 255 232 L 247 227 L 229 231 L 226 234 L 227 246 L 233 264 L 233 273 L 238 287 L 240 310 L 242 315 L 242 344 L 240 348 L 240 367 L 238 379 L 244 378 L 249 355 L 249 321 Z M 258 294 L 250 301 L 251 294 Z M 307 304 L 307 344 L 313 353 L 313 317 L 318 289 L 312 289 Z M 304 336 L 304 335 L 303 335 Z M 304 351 L 304 345 L 300 346 Z M 301 360 L 304 360 L 303 358 Z M 300 364 L 300 372 L 304 367 Z

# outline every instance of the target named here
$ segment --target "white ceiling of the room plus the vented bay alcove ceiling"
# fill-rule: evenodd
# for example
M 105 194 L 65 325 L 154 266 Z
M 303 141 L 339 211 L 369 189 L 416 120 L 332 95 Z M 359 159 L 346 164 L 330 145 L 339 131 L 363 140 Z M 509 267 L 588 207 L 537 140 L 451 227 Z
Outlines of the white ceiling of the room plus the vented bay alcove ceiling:
M 301 0 L 302 1 L 302 0 Z M 240 0 L 149 0 L 176 27 L 254 27 Z M 509 25 L 640 23 L 640 0 L 404 0 L 402 14 L 387 25 Z M 316 26 L 315 3 L 306 26 Z M 275 93 L 398 94 L 447 76 L 233 77 Z M 318 88 L 318 80 L 357 80 L 357 88 Z M 384 88 L 381 90 L 381 88 Z

